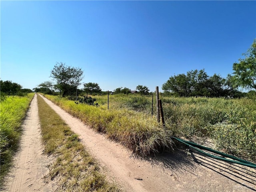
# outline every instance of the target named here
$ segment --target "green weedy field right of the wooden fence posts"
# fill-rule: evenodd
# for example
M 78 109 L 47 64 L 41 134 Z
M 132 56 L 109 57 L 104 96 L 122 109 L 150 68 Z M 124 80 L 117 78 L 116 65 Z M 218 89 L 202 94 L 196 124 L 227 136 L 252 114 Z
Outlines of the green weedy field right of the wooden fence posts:
M 177 136 L 211 138 L 218 150 L 255 161 L 253 99 L 163 98 L 165 120 Z

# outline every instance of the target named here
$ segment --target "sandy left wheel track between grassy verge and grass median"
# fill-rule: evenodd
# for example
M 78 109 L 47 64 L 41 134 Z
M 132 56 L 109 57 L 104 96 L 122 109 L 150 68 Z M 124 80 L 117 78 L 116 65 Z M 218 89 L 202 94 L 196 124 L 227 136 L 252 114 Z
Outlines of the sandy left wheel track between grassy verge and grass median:
M 3 191 L 28 192 L 50 191 L 43 177 L 48 173 L 49 160 L 43 155 L 41 130 L 38 117 L 37 95 L 30 103 L 30 108 L 22 124 L 20 149 L 14 157 L 14 167 L 5 178 Z

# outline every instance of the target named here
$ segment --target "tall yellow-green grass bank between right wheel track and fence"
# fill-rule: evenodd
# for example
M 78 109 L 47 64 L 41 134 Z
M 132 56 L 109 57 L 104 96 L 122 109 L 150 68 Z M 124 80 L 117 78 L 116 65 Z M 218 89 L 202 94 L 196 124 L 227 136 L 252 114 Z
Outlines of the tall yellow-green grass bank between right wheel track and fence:
M 102 106 L 100 102 L 100 107 L 96 107 L 56 96 L 46 95 L 46 98 L 136 154 L 146 156 L 173 147 L 172 131 L 163 128 L 150 114 L 129 108 L 107 110 L 106 105 Z

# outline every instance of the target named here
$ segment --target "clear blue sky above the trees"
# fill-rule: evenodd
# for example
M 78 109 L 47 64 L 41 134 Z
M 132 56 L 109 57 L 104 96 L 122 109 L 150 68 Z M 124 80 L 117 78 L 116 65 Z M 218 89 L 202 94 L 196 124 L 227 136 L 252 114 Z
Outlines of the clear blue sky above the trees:
M 1 80 L 35 88 L 56 62 L 102 90 L 205 69 L 226 77 L 256 38 L 256 1 L 2 1 Z

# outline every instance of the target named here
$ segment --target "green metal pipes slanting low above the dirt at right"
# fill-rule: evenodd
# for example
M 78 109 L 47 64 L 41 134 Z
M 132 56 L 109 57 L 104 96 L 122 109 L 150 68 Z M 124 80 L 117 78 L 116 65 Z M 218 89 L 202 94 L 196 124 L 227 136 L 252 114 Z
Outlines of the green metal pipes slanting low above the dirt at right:
M 231 163 L 236 163 L 236 164 L 244 165 L 244 166 L 248 166 L 248 167 L 251 167 L 251 168 L 256 168 L 256 164 L 254 164 L 252 162 L 248 162 L 246 160 L 237 158 L 235 156 L 232 156 L 232 155 L 229 155 L 229 154 L 225 154 L 225 153 L 213 150 L 213 149 L 205 147 L 205 146 L 201 146 L 199 144 L 196 144 L 196 143 L 193 143 L 193 142 L 190 142 L 190 141 L 182 140 L 182 139 L 179 139 L 179 138 L 176 138 L 176 137 L 171 137 L 171 138 L 174 138 L 174 139 L 178 140 L 179 142 L 182 142 L 183 144 L 185 144 L 185 145 L 193 148 L 194 150 L 197 150 L 197 151 L 201 152 L 202 154 L 205 154 L 206 156 L 209 156 L 211 158 L 219 159 L 219 160 L 222 160 L 222 161 L 225 161 L 225 162 L 231 162 Z M 234 159 L 234 160 L 226 159 L 226 158 L 223 158 L 223 157 L 220 157 L 220 156 L 215 156 L 215 155 L 206 153 L 206 152 L 204 152 L 204 151 L 202 151 L 202 150 L 200 150 L 198 148 L 201 148 L 203 150 L 207 150 L 207 151 L 210 151 L 210 152 L 213 152 L 213 153 L 216 153 L 216 154 L 220 154 L 222 156 L 226 156 L 226 157 Z

